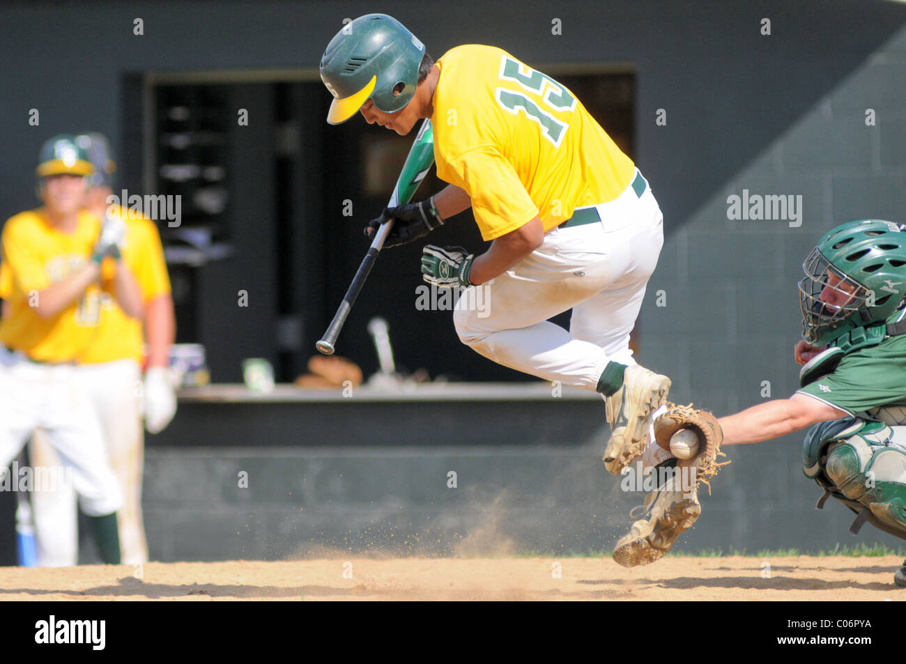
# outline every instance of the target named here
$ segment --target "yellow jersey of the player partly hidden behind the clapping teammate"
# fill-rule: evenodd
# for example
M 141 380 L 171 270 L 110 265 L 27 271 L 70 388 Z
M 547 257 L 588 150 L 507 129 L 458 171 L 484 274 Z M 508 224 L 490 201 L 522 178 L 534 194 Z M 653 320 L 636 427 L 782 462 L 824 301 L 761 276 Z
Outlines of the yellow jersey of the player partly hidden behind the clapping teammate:
M 141 290 L 142 303 L 148 304 L 161 295 L 169 295 L 170 283 L 160 235 L 154 222 L 135 217 L 127 208 L 120 208 L 120 218 L 126 222 L 122 245 L 122 260 L 129 267 Z M 114 265 L 101 265 L 101 278 L 107 284 L 113 278 Z M 142 359 L 142 322 L 123 313 L 109 296 L 101 299 L 101 322 L 92 342 L 78 355 L 80 364 L 100 364 L 115 360 Z

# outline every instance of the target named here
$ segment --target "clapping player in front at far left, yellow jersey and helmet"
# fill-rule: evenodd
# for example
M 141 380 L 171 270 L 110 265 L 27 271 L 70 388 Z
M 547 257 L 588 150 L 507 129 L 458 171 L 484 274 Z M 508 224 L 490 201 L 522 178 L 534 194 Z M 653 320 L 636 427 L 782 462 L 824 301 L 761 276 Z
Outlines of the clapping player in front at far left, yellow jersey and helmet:
M 9 290 L 0 321 L 0 467 L 42 428 L 72 470 L 102 560 L 120 563 L 120 487 L 73 364 L 96 332 L 101 263 L 112 261 L 111 278 L 101 285 L 124 312 L 140 315 L 141 295 L 120 257 L 121 222 L 101 224 L 82 210 L 92 172 L 75 137 L 47 140 L 36 169 L 44 205 L 10 218 L 3 229 L 0 261 L 9 270 Z

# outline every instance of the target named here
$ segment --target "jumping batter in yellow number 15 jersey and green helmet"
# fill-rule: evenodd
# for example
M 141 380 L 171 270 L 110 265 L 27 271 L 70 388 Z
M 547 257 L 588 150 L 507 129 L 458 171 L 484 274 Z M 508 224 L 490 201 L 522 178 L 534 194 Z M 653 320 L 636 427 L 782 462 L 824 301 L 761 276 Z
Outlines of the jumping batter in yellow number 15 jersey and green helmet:
M 651 413 L 670 389 L 629 348 L 663 245 L 663 217 L 638 168 L 544 72 L 477 44 L 434 63 L 418 37 L 386 14 L 345 25 L 323 54 L 321 78 L 333 95 L 332 124 L 360 112 L 403 135 L 431 120 L 438 175 L 449 186 L 385 209 L 366 233 L 393 219 L 384 246 L 400 245 L 471 207 L 490 248 L 474 255 L 425 246 L 425 281 L 487 289 L 489 307 L 454 313 L 459 339 L 477 352 L 602 393 L 612 427 L 604 463 L 619 475 L 648 447 Z M 568 309 L 569 332 L 547 322 Z M 699 511 L 695 496 L 664 491 L 651 505 L 651 531 L 621 544 L 657 540 L 669 548 Z

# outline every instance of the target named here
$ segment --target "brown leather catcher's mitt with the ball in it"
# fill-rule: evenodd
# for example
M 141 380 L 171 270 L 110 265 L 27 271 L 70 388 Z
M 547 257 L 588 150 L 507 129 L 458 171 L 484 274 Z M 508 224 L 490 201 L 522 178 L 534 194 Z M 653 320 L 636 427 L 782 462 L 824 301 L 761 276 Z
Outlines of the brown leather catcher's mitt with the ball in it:
M 718 424 L 718 419 L 708 410 L 699 410 L 689 406 L 677 406 L 668 401 L 667 411 L 661 413 L 654 420 L 654 438 L 658 445 L 670 450 L 670 437 L 681 428 L 689 428 L 699 437 L 699 452 L 690 459 L 679 461 L 680 467 L 695 467 L 696 482 L 708 485 L 708 495 L 711 493 L 710 478 L 717 475 L 721 466 L 726 466 L 729 461 L 718 463 L 718 457 L 726 457 L 720 451 L 720 444 L 724 441 L 724 432 Z

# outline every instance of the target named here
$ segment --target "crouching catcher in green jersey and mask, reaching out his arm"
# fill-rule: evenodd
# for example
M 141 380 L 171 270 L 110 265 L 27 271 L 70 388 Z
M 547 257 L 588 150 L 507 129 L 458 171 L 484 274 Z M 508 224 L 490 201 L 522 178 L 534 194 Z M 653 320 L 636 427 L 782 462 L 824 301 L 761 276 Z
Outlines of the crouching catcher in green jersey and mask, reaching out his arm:
M 897 426 L 906 425 L 906 225 L 861 219 L 837 226 L 821 238 L 803 269 L 803 341 L 794 349 L 803 365 L 801 389 L 789 399 L 718 419 L 717 428 L 704 411 L 689 410 L 688 419 L 710 426 L 705 433 L 718 444 L 722 434 L 723 445 L 811 427 L 803 464 L 805 475 L 824 488 L 818 506 L 833 496 L 857 515 L 851 532 L 867 521 L 906 539 L 906 427 Z M 655 419 L 656 433 L 668 425 L 676 430 L 675 421 L 662 421 L 669 415 Z M 674 413 L 673 419 L 683 418 Z M 701 422 L 692 425 L 701 428 Z M 662 438 L 655 461 L 665 456 Z M 651 534 L 676 522 L 677 515 L 668 514 L 636 522 L 614 557 L 630 565 L 660 557 L 651 556 Z M 906 587 L 906 563 L 894 582 Z

